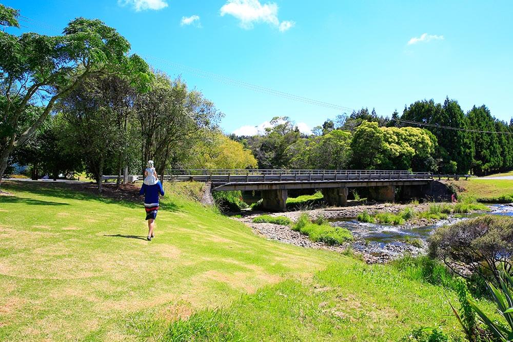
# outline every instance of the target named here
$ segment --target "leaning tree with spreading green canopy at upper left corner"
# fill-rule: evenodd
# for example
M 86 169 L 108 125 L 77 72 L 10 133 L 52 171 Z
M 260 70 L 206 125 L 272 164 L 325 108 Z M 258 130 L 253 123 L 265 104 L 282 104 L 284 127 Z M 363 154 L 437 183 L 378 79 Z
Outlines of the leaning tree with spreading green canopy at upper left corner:
M 19 27 L 18 15 L 0 5 L 4 26 Z M 97 19 L 76 18 L 61 36 L 0 32 L 0 180 L 13 150 L 43 124 L 59 99 L 85 79 L 99 73 L 129 73 L 140 84 L 148 80 L 148 66 L 139 56 L 129 56 L 129 50 L 123 36 Z M 41 110 L 32 115 L 36 103 Z

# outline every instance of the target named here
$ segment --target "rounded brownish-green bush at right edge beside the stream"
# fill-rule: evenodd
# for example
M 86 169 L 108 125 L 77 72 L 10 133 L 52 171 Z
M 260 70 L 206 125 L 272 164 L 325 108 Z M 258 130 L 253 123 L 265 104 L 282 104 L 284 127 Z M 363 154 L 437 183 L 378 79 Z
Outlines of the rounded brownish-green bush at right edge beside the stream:
M 429 253 L 448 267 L 464 264 L 498 283 L 498 267 L 513 266 L 513 217 L 486 215 L 444 226 L 429 238 Z M 459 269 L 454 271 L 466 277 Z

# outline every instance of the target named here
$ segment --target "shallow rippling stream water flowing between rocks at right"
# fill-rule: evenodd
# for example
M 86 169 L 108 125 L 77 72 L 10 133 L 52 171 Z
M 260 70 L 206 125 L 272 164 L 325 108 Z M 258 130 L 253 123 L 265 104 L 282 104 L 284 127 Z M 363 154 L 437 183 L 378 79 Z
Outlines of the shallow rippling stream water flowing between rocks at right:
M 513 216 L 513 206 L 489 204 L 489 212 L 478 212 L 459 215 L 428 226 L 393 226 L 383 224 L 361 223 L 356 218 L 331 219 L 330 224 L 347 228 L 356 238 L 353 249 L 375 255 L 384 260 L 405 253 L 419 254 L 426 246 L 426 240 L 437 228 L 454 224 L 470 217 L 485 214 Z

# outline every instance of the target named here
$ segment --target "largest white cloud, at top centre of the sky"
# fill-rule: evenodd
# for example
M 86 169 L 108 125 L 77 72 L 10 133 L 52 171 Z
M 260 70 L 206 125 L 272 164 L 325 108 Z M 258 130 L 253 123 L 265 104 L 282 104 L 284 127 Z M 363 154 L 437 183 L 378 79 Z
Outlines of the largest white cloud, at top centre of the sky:
M 278 5 L 267 3 L 262 5 L 259 0 L 227 0 L 221 7 L 221 16 L 229 14 L 239 19 L 240 26 L 252 29 L 254 23 L 266 23 L 285 32 L 294 26 L 294 22 L 278 19 Z

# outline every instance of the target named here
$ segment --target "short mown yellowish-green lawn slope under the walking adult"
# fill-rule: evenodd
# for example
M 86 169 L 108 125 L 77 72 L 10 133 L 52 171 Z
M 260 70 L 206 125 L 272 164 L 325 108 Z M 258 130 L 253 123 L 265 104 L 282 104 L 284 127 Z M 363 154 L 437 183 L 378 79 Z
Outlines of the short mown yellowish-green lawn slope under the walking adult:
M 0 340 L 121 340 L 132 312 L 180 317 L 228 305 L 328 259 L 179 197 L 163 200 L 148 242 L 139 203 L 2 186 L 14 196 L 0 197 Z

